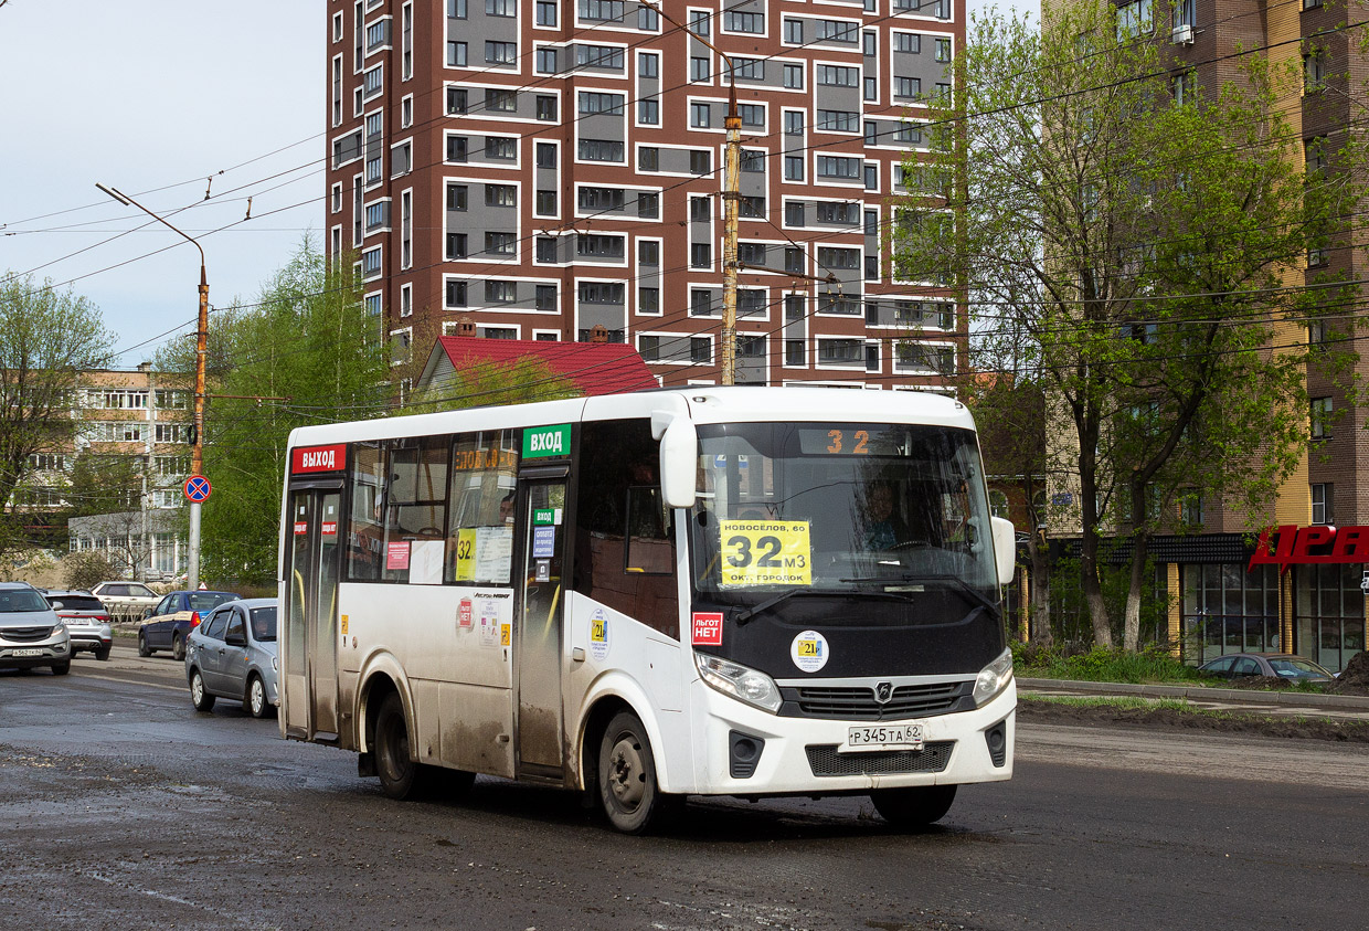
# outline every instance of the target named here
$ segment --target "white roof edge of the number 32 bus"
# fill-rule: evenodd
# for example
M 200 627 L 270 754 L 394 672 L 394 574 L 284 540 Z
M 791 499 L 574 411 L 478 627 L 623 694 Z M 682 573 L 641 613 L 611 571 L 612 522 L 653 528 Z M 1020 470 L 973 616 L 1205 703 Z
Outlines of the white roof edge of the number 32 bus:
M 694 385 L 297 427 L 290 433 L 290 446 L 533 427 L 576 420 L 649 418 L 653 412 L 663 411 L 687 416 L 695 423 L 869 422 L 975 429 L 973 418 L 964 404 L 932 392 Z

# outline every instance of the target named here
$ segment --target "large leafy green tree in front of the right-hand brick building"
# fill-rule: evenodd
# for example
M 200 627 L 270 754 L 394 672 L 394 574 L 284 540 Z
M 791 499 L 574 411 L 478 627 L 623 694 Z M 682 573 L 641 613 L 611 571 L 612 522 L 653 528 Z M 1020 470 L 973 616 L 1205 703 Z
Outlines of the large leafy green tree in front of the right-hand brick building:
M 1149 26 L 1099 0 L 1051 4 L 1039 30 L 976 16 L 917 168 L 925 196 L 895 231 L 901 277 L 965 282 L 980 367 L 1025 349 L 1047 470 L 1073 485 L 1094 639 L 1120 630 L 1128 649 L 1146 541 L 1179 497 L 1201 489 L 1261 523 L 1302 455 L 1306 327 L 1344 329 L 1355 296 L 1335 275 L 1305 286 L 1302 268 L 1309 248 L 1346 242 L 1364 193 L 1353 141 L 1305 171 L 1284 118 L 1295 68 L 1253 55 L 1214 93 L 1180 77 L 1176 96 L 1181 71 Z M 1348 371 L 1340 345 L 1317 364 Z M 1109 530 L 1132 542 L 1120 619 L 1099 581 Z

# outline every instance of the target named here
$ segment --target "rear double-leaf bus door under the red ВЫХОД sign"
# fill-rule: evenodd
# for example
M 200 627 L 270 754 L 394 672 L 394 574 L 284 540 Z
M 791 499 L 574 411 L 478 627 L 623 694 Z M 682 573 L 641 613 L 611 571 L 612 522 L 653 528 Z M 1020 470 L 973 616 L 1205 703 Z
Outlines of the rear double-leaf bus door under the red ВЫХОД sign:
M 290 490 L 285 617 L 285 726 L 290 737 L 338 735 L 341 487 Z

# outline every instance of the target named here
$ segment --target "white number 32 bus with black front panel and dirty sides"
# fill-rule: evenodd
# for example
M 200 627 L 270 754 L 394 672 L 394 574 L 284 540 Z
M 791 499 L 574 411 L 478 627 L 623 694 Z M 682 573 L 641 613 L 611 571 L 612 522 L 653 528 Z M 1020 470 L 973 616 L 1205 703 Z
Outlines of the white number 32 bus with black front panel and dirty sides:
M 591 793 L 868 794 L 899 826 L 1009 779 L 990 518 L 964 405 L 690 387 L 304 427 L 281 730 L 402 798 L 444 769 Z

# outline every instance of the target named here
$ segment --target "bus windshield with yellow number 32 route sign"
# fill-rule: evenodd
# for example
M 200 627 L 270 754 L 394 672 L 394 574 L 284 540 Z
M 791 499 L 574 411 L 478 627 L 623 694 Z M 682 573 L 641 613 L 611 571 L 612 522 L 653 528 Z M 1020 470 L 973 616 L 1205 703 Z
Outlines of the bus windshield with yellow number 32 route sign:
M 786 591 L 956 587 L 997 607 L 973 431 L 728 423 L 701 424 L 698 437 L 697 591 L 756 604 Z

